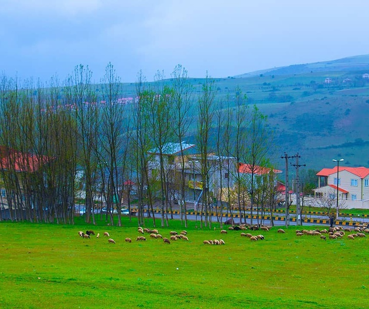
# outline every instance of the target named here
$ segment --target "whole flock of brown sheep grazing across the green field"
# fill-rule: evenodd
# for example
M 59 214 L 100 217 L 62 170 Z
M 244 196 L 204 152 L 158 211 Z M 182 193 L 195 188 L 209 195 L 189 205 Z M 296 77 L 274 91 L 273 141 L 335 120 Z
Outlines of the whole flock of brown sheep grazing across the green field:
M 247 224 L 241 224 L 237 226 L 229 226 L 228 230 L 230 231 L 264 231 L 268 232 L 272 226 L 257 226 L 257 225 L 247 225 Z M 215 230 L 215 229 L 214 229 Z M 159 234 L 159 231 L 157 229 L 148 229 L 148 228 L 141 228 L 140 226 L 137 228 L 137 232 L 139 234 L 145 235 L 147 234 L 150 238 L 160 238 L 165 244 L 170 244 L 171 241 L 177 241 L 177 240 L 185 240 L 189 241 L 189 238 L 187 236 L 187 231 L 181 231 L 180 233 L 177 233 L 176 231 L 169 232 L 168 237 L 163 237 L 161 234 Z M 355 239 L 356 237 L 366 237 L 365 233 L 369 233 L 369 224 L 368 225 L 358 225 L 353 229 L 345 228 L 343 229 L 341 226 L 335 226 L 334 228 L 329 228 L 329 230 L 322 229 L 322 230 L 296 230 L 296 236 L 303 236 L 303 235 L 312 235 L 312 236 L 319 236 L 320 239 L 326 240 L 328 237 L 329 239 L 337 239 L 342 238 L 345 235 L 345 232 L 351 232 L 351 234 L 347 235 L 347 239 Z M 227 230 L 221 230 L 220 234 L 227 234 Z M 284 234 L 283 229 L 278 229 L 277 233 Z M 78 235 L 82 238 L 91 238 L 91 235 L 95 235 L 94 231 L 86 231 L 86 233 L 79 231 Z M 115 240 L 110 238 L 110 235 L 108 232 L 104 232 L 104 237 L 108 237 L 108 243 L 115 243 Z M 325 236 L 327 235 L 327 236 Z M 100 233 L 97 233 L 96 238 L 100 237 Z M 248 237 L 251 241 L 257 241 L 257 240 L 264 240 L 265 237 L 262 234 L 253 235 L 251 233 L 244 233 L 241 232 L 241 237 Z M 132 239 L 127 237 L 125 239 L 127 243 L 131 243 Z M 136 241 L 146 241 L 145 236 L 137 236 Z M 211 240 L 204 240 L 202 242 L 203 244 L 215 244 L 215 245 L 223 245 L 226 244 L 223 239 L 211 239 Z

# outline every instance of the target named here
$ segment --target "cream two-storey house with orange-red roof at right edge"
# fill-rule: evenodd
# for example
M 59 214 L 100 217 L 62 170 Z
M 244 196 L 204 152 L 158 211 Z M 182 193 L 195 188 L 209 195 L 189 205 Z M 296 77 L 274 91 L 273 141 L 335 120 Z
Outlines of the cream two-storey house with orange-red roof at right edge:
M 338 177 L 337 177 L 338 175 Z M 344 200 L 345 208 L 369 209 L 369 168 L 337 167 L 324 168 L 318 176 L 318 188 L 315 196 L 326 196 Z

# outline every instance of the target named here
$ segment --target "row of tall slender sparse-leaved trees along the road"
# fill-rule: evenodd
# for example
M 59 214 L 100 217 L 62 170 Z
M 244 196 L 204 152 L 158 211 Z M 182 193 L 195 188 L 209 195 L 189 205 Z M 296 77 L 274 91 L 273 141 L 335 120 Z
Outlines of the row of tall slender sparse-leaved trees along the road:
M 47 85 L 33 81 L 20 84 L 19 80 L 3 75 L 2 209 L 9 208 L 13 220 L 73 224 L 76 192 L 83 191 L 86 222 L 94 223 L 92 209 L 98 195 L 107 205 L 109 223 L 113 224 L 110 210 L 116 207 L 121 225 L 122 203 L 131 208 L 132 182 L 128 180 L 132 180 L 137 183 L 138 201 L 134 201 L 134 206 L 138 209 L 138 223 L 145 223 L 144 206 L 148 205 L 154 225 L 157 224 L 154 203 L 160 201 L 160 224 L 169 225 L 165 211 L 171 208 L 174 192 L 186 211 L 188 162 L 185 156 L 179 156 L 180 173 L 174 176 L 163 147 L 169 142 L 182 145 L 189 136 L 194 136 L 202 183 L 207 188 L 209 155 L 217 154 L 219 160 L 234 157 L 236 162 L 249 164 L 251 177 L 244 177 L 238 168 L 219 162 L 220 169 L 224 169 L 219 174 L 231 173 L 235 179 L 233 184 L 231 177 L 220 176 L 219 196 L 227 196 L 230 213 L 232 205 L 245 216 L 250 204 L 251 210 L 256 204 L 274 204 L 275 192 L 271 192 L 274 186 L 264 186 L 264 193 L 260 193 L 263 186 L 257 185 L 254 177 L 258 166 L 268 165 L 271 136 L 267 118 L 256 107 L 247 105 L 247 97 L 240 89 L 235 89 L 236 95 L 215 101 L 216 88 L 209 76 L 195 94 L 187 74 L 178 65 L 170 83 L 162 72 L 147 83 L 139 72 L 136 95 L 129 102 L 122 99 L 125 89 L 111 64 L 106 67 L 98 89 L 92 84 L 91 70 L 83 65 L 75 67 L 66 80 L 53 77 Z M 153 149 L 159 156 L 159 168 L 155 171 L 150 169 L 153 154 L 149 151 Z M 179 155 L 183 151 L 181 148 Z M 23 168 L 15 166 L 19 156 Z M 274 183 L 275 179 L 271 181 Z M 263 183 L 268 183 L 267 179 Z M 226 194 L 223 188 L 228 189 Z M 201 227 L 211 226 L 211 205 L 219 196 L 203 190 L 200 207 L 206 215 L 201 215 Z M 186 215 L 182 220 L 187 225 Z

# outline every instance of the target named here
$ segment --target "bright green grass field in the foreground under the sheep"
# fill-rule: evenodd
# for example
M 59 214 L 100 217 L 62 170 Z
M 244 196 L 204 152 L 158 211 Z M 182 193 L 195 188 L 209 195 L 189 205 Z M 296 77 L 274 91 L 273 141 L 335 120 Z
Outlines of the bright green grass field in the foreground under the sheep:
M 0 223 L 1 308 L 364 308 L 369 288 L 369 240 L 321 240 L 296 226 L 252 242 L 241 231 L 197 230 L 190 241 L 135 241 L 124 227 Z M 180 232 L 171 221 L 169 232 Z M 216 225 L 213 225 L 216 226 Z M 153 226 L 147 224 L 147 227 Z M 305 227 L 306 228 L 306 227 Z M 319 227 L 321 228 L 321 226 Z M 82 239 L 92 229 L 107 237 Z M 132 238 L 126 243 L 125 238 Z M 204 245 L 222 238 L 225 245 Z

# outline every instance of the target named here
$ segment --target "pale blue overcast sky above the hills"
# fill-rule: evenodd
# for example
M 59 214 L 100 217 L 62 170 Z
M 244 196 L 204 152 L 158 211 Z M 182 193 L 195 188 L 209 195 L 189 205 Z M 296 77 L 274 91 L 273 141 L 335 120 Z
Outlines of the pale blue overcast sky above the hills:
M 227 77 L 369 53 L 366 0 L 0 0 L 0 73 Z

